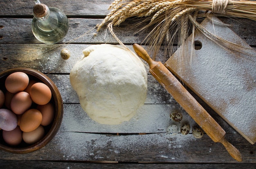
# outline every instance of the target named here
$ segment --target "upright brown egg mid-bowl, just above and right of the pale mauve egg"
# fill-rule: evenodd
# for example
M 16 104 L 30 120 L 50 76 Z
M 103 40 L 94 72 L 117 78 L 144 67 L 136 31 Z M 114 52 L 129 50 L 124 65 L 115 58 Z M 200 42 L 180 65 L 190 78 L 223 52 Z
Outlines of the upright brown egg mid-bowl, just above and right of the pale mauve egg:
M 20 91 L 11 99 L 11 110 L 15 114 L 22 114 L 31 107 L 32 100 L 29 93 Z

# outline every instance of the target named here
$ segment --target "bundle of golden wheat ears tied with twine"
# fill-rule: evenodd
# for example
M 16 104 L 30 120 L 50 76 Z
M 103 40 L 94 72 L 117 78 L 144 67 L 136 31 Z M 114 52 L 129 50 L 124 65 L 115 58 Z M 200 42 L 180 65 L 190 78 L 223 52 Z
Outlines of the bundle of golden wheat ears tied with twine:
M 247 50 L 209 33 L 200 26 L 196 21 L 197 18 L 221 15 L 230 18 L 256 20 L 256 1 L 250 0 L 115 0 L 109 9 L 111 9 L 110 13 L 101 24 L 97 25 L 98 31 L 104 24 L 109 22 L 108 28 L 111 29 L 112 35 L 118 39 L 112 30 L 112 25 L 118 26 L 130 17 L 143 17 L 142 22 L 147 22 L 147 25 L 139 31 L 154 25 L 154 28 L 144 40 L 152 49 L 153 58 L 155 58 L 163 42 L 166 53 L 168 52 L 169 56 L 171 56 L 173 41 L 177 34 L 179 37 L 178 47 L 182 47 L 180 49 L 182 51 L 180 52 L 181 62 L 185 64 L 188 56 L 186 38 L 188 37 L 189 28 L 192 28 L 192 32 L 198 29 L 207 38 L 228 51 L 246 52 Z M 202 13 L 200 11 L 205 12 Z M 118 42 L 121 43 L 120 40 Z

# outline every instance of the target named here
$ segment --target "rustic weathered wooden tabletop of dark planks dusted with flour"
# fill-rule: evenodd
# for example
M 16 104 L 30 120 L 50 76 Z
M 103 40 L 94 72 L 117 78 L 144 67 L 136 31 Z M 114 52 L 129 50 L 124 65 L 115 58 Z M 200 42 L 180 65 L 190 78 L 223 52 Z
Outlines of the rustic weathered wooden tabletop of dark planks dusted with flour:
M 226 138 L 242 154 L 237 162 L 220 143 L 213 142 L 206 134 L 195 139 L 190 132 L 183 136 L 167 136 L 166 128 L 173 124 L 169 115 L 178 110 L 191 127 L 196 123 L 180 105 L 148 75 L 148 97 L 135 118 L 121 125 L 99 125 L 90 120 L 79 105 L 79 99 L 70 85 L 69 73 L 82 50 L 93 44 L 117 44 L 104 27 L 97 32 L 94 27 L 106 14 L 112 0 L 42 0 L 49 7 L 56 7 L 69 18 L 69 31 L 59 44 L 42 44 L 31 31 L 33 0 L 0 0 L 0 71 L 14 67 L 39 70 L 57 85 L 64 102 L 61 127 L 48 145 L 27 154 L 0 151 L 1 168 L 255 168 L 256 146 L 240 136 L 222 118 L 198 97 L 198 101 L 226 131 Z M 234 21 L 221 18 L 249 45 L 256 47 L 255 21 Z M 134 20 L 128 19 L 115 33 L 127 47 L 141 43 L 146 34 L 134 34 Z M 97 34 L 96 34 L 97 33 Z M 80 37 L 81 36 L 81 37 Z M 60 51 L 71 52 L 63 60 Z M 166 62 L 168 58 L 157 60 Z M 192 93 L 193 94 L 193 93 Z M 246 112 L 242 112 L 246 113 Z

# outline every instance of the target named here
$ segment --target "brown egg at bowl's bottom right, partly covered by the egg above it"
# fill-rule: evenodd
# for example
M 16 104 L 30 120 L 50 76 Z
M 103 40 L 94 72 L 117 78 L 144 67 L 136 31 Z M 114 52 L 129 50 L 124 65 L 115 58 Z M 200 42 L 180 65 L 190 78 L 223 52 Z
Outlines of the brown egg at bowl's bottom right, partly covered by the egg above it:
M 39 126 L 33 131 L 23 132 L 22 138 L 27 144 L 34 144 L 40 141 L 44 135 L 45 135 L 45 129 L 43 128 L 43 126 Z

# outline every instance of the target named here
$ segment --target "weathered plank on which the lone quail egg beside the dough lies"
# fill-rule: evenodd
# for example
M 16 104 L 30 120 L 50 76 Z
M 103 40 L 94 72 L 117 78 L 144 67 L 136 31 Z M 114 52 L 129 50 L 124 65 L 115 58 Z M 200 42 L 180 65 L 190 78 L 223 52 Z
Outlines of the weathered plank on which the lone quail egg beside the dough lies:
M 92 44 L 0 44 L 0 71 L 14 67 L 29 67 L 43 73 L 70 73 L 74 64 L 83 56 L 83 49 Z M 61 49 L 70 51 L 70 58 L 61 58 Z M 127 45 L 131 50 L 132 46 Z M 159 51 L 157 60 L 165 62 L 164 51 Z

